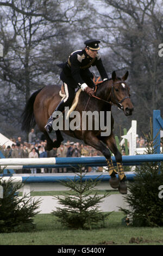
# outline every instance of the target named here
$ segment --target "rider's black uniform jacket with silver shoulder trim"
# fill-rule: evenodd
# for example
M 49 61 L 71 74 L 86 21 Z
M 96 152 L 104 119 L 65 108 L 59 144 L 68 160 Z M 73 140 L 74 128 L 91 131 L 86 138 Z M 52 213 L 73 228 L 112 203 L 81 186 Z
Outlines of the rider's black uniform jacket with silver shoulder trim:
M 83 75 L 93 78 L 89 71 L 91 66 L 97 67 L 102 80 L 108 79 L 100 54 L 97 53 L 95 58 L 91 58 L 85 50 L 78 50 L 71 53 L 67 62 L 63 65 L 63 71 L 67 77 L 72 77 L 78 86 L 81 87 L 85 83 L 82 79 Z

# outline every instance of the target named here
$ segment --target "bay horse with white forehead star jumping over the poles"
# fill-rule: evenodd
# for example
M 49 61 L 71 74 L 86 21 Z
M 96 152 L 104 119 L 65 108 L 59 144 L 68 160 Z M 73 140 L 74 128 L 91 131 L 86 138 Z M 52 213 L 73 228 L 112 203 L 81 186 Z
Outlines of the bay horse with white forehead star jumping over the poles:
M 106 113 L 106 111 L 111 111 L 111 105 L 114 104 L 117 105 L 118 108 L 122 109 L 125 115 L 131 115 L 134 108 L 130 101 L 129 87 L 125 82 L 127 77 L 128 71 L 122 78 L 117 77 L 115 71 L 112 72 L 112 77 L 109 80 L 98 85 L 94 97 L 90 97 L 85 92 L 80 93 L 75 110 L 78 111 L 81 116 L 82 111 L 98 111 L 98 113 L 100 111 L 104 111 L 104 113 Z M 61 141 L 64 140 L 59 130 L 55 131 L 57 135 L 56 141 L 52 141 L 45 130 L 45 125 L 49 116 L 54 112 L 61 101 L 59 91 L 60 87 L 57 85 L 45 86 L 42 89 L 37 90 L 32 94 L 32 96 L 30 96 L 22 113 L 22 130 L 29 132 L 29 130 L 37 124 L 39 130 L 43 132 L 46 137 L 47 150 L 60 147 Z M 105 122 L 106 120 L 104 118 L 104 123 Z M 100 129 L 98 131 L 95 129 L 80 129 L 72 131 L 70 129 L 63 130 L 63 132 L 71 137 L 81 139 L 85 144 L 101 151 L 108 163 L 108 172 L 111 176 L 109 180 L 111 187 L 118 188 L 122 194 L 126 194 L 126 175 L 123 171 L 122 155 L 116 146 L 113 128 L 114 118 L 111 114 L 111 132 L 109 136 L 101 136 Z M 112 164 L 109 149 L 115 155 L 119 179 L 116 177 L 117 170 Z

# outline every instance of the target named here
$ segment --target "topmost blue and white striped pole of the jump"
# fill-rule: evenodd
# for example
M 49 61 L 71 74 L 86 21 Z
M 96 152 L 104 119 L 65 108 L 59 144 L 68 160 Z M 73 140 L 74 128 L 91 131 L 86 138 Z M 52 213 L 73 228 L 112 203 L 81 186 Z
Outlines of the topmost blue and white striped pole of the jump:
M 23 168 L 63 168 L 63 167 L 79 167 L 82 166 L 107 166 L 106 159 L 99 157 L 50 157 L 45 159 L 36 159 L 39 161 L 31 161 L 30 159 L 0 159 L 1 166 L 12 166 L 15 169 Z M 41 162 L 40 162 L 41 160 Z M 163 161 L 163 154 L 134 155 L 122 156 L 124 165 L 141 165 L 143 162 L 160 162 Z M 49 163 L 48 163 L 49 162 Z M 112 156 L 112 162 L 116 165 L 116 159 Z

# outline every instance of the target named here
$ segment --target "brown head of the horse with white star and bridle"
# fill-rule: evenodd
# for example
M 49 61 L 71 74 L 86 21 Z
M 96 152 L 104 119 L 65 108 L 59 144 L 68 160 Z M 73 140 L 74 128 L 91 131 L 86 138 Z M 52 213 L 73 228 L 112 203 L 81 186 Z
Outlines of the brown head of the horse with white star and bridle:
M 116 76 L 116 72 L 112 72 L 112 84 L 110 99 L 111 102 L 118 106 L 118 108 L 124 111 L 124 114 L 131 115 L 134 107 L 130 101 L 129 87 L 126 81 L 128 77 L 128 71 L 122 78 Z

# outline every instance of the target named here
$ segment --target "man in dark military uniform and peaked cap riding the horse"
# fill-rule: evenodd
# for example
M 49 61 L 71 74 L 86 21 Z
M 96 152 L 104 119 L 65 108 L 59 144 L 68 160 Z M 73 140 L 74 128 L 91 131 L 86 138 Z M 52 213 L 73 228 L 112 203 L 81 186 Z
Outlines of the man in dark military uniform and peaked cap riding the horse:
M 66 96 L 65 99 L 60 102 L 57 111 L 63 112 L 65 107 L 71 106 L 74 99 L 75 88 L 78 86 L 89 94 L 89 96 L 95 94 L 93 91 L 93 87 L 95 87 L 92 81 L 93 74 L 89 70 L 91 66 L 97 67 L 103 81 L 108 80 L 108 75 L 103 66 L 101 56 L 98 53 L 99 43 L 100 41 L 97 39 L 86 40 L 84 42 L 84 50 L 71 53 L 67 62 L 61 64 L 62 71 L 60 79 L 64 84 Z M 52 131 L 53 120 L 54 118 L 51 115 L 45 126 L 48 132 Z

